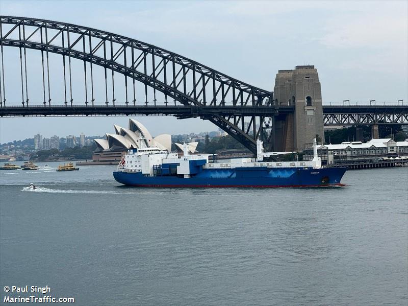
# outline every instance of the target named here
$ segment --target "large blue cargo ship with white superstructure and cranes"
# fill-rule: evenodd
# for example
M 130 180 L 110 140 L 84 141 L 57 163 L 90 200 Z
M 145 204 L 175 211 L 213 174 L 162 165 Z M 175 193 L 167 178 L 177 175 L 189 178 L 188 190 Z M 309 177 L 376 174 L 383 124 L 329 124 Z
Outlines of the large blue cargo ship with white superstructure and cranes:
M 264 161 L 274 155 L 264 152 L 257 140 L 257 158 L 209 162 L 211 154 L 183 156 L 159 148 L 130 149 L 113 172 L 116 181 L 138 187 L 325 187 L 343 186 L 347 168 L 323 168 L 313 139 L 312 161 Z

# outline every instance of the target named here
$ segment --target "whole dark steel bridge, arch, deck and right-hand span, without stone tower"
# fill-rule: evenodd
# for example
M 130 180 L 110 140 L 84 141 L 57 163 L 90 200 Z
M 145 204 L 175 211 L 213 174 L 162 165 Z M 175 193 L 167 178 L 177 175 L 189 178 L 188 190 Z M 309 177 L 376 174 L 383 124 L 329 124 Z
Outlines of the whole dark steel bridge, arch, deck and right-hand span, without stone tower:
M 19 60 L 14 61 L 19 61 L 19 66 L 13 71 L 18 77 L 11 81 L 13 73 L 7 69 L 5 73 L 5 66 L 12 62 L 4 51 L 9 49 L 6 47 L 19 50 Z M 71 23 L 0 16 L 0 51 L 2 117 L 200 117 L 255 153 L 257 138 L 264 141 L 267 150 L 276 148 L 275 119 L 285 120 L 287 114 L 296 111 L 293 105 L 274 103 L 271 91 L 231 78 L 179 54 Z M 36 62 L 30 59 L 30 52 L 38 55 L 40 63 L 35 74 L 30 73 L 30 65 Z M 56 80 L 56 66 L 60 69 L 57 76 L 60 81 Z M 35 81 L 38 88 L 33 85 Z M 19 88 L 10 94 L 9 84 L 13 83 L 19 84 Z M 58 98 L 51 90 L 56 84 L 62 84 L 56 90 L 60 93 Z M 33 93 L 35 89 L 37 93 Z M 15 100 L 18 91 L 20 102 Z M 11 103 L 6 95 L 13 97 Z M 43 105 L 38 105 L 41 103 Z M 408 106 L 323 105 L 323 122 L 324 125 L 408 124 Z

